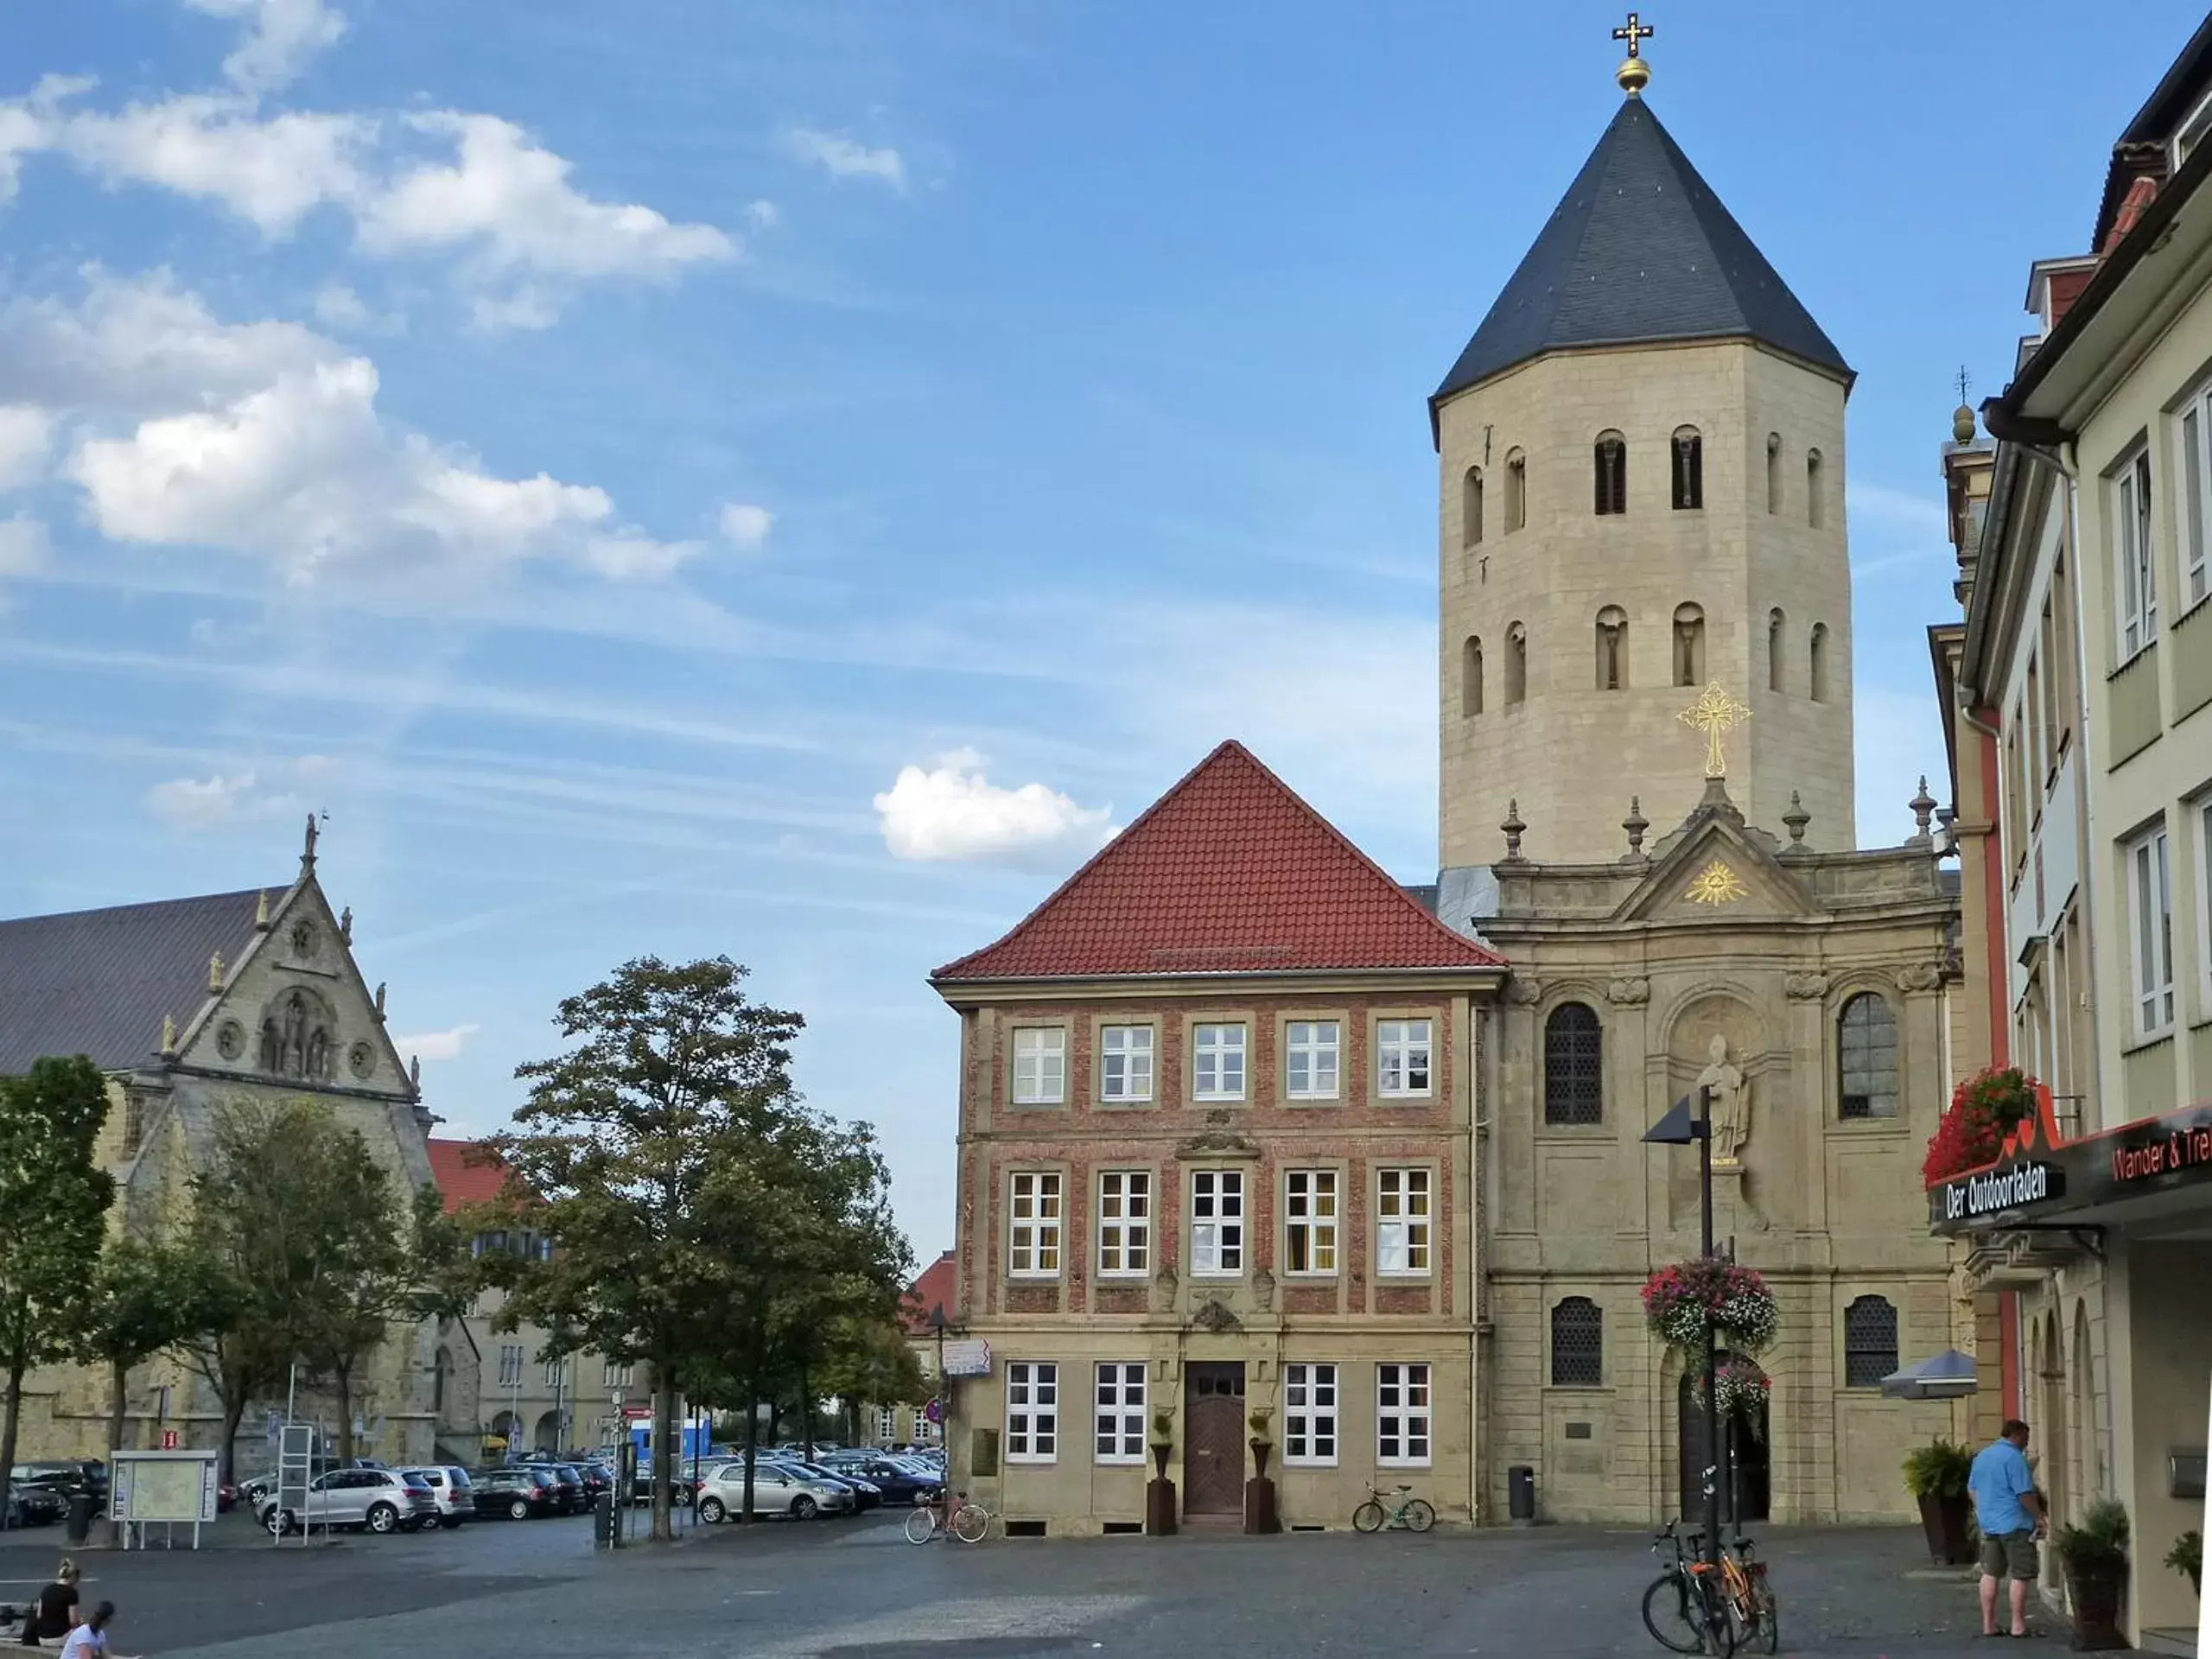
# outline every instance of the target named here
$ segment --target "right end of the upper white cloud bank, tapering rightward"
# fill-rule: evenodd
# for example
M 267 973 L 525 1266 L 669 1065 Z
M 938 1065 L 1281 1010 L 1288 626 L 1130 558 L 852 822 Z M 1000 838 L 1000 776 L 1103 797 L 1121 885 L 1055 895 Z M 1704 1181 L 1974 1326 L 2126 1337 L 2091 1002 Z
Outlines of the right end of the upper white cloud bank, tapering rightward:
M 637 204 L 593 201 L 568 184 L 573 164 L 498 115 L 442 111 L 409 126 L 449 137 L 447 164 L 422 164 L 363 204 L 369 252 L 467 248 L 491 272 L 664 276 L 737 257 L 714 226 L 670 223 Z

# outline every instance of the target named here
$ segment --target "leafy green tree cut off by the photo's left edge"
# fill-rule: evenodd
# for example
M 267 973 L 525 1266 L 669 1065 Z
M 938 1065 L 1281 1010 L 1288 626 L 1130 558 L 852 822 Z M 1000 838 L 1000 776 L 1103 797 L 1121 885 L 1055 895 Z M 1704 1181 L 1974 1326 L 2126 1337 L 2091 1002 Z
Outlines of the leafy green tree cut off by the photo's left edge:
M 91 1060 L 0 1077 L 0 1504 L 15 1467 L 22 1378 L 75 1347 L 115 1181 L 93 1161 L 108 1084 Z

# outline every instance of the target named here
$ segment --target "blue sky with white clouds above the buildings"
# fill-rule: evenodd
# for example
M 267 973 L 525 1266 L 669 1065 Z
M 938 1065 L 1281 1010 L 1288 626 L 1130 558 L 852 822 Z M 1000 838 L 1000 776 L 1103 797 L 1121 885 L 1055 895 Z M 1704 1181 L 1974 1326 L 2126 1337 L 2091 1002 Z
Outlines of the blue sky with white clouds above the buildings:
M 281 883 L 327 810 L 458 1133 L 562 993 L 728 951 L 927 1256 L 925 973 L 1214 741 L 1433 872 L 1422 400 L 1613 115 L 1613 7 L 0 15 L 0 914 Z M 1652 106 L 1860 372 L 1898 838 L 1953 374 L 2002 385 L 2199 13 L 1646 15 Z

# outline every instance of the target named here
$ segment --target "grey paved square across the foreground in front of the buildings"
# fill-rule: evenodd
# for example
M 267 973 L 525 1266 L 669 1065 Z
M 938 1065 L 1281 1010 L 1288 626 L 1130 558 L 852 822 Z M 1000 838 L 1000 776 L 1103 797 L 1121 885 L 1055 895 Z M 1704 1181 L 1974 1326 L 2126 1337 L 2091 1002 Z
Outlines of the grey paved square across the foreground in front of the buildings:
M 60 1540 L 55 1540 L 60 1542 Z M 898 1517 L 706 1528 L 593 1555 L 588 1524 L 480 1524 L 330 1546 L 93 1553 L 117 1648 L 168 1659 L 1024 1659 L 1026 1655 L 1659 1655 L 1644 1533 L 991 1540 L 909 1546 Z M 1770 1528 L 1783 1652 L 2059 1652 L 1975 1637 L 1973 1584 L 1918 1528 Z M 44 1553 L 0 1548 L 0 1599 Z M 2039 1617 L 2048 1630 L 2051 1619 Z

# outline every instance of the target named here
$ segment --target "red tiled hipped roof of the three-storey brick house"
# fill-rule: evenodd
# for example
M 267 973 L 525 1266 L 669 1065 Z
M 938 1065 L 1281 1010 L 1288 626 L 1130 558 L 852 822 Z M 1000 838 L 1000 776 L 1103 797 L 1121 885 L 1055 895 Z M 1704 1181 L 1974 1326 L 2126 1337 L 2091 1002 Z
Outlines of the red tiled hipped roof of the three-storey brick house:
M 936 980 L 1504 967 L 1230 741 Z

